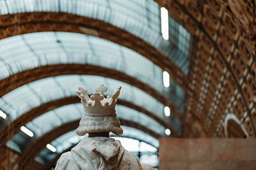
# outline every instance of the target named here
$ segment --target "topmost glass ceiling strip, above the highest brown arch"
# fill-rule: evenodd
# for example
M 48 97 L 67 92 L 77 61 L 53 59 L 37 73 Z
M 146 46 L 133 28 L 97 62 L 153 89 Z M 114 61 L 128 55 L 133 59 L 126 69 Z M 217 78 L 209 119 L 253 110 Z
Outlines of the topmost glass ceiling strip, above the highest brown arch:
M 190 34 L 169 16 L 170 40 L 164 40 L 160 6 L 153 0 L 0 0 L 0 15 L 34 11 L 72 13 L 108 22 L 155 46 L 188 73 Z

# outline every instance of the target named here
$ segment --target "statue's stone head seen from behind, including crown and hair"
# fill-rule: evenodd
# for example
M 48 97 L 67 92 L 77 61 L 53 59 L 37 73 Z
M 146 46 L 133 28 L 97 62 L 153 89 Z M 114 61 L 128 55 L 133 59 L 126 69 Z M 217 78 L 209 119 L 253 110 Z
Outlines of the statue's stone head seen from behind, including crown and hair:
M 77 96 L 81 99 L 84 108 L 79 127 L 76 129 L 79 136 L 95 132 L 113 132 L 116 136 L 123 134 L 115 111 L 116 98 L 120 94 L 121 87 L 118 87 L 111 96 L 104 97 L 104 92 L 107 90 L 108 88 L 101 84 L 89 97 L 86 89 L 78 88 Z

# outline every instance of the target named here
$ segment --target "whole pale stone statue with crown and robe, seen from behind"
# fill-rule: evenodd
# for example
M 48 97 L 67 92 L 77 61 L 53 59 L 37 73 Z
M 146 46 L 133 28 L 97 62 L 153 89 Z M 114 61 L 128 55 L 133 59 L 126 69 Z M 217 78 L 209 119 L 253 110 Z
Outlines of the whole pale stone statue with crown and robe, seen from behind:
M 99 85 L 92 96 L 87 90 L 78 88 L 77 96 L 83 103 L 84 114 L 76 133 L 89 138 L 82 139 L 70 152 L 63 153 L 58 160 L 56 170 L 60 169 L 153 169 L 147 164 L 140 164 L 138 159 L 124 149 L 120 141 L 109 138 L 109 132 L 116 136 L 123 133 L 120 120 L 116 117 L 115 104 L 121 87 L 112 96 L 104 97 L 108 90 Z

